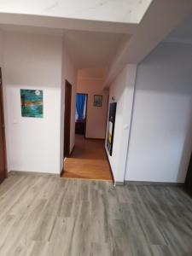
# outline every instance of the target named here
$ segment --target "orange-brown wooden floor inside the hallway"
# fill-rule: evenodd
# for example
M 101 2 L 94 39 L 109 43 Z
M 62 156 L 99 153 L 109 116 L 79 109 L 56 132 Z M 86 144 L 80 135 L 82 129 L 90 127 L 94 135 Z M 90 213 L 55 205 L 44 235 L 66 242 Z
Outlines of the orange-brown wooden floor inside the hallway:
M 62 177 L 112 181 L 102 140 L 87 140 L 76 135 L 73 154 L 64 161 Z

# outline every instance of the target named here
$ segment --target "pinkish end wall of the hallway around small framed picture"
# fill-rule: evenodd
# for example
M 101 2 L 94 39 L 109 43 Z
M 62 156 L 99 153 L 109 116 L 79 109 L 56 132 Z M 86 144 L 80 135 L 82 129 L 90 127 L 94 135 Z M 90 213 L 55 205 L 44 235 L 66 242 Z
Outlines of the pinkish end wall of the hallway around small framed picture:
M 78 79 L 77 93 L 88 94 L 87 138 L 105 138 L 108 114 L 108 90 L 102 90 L 102 79 Z M 94 107 L 94 95 L 102 95 L 102 107 Z

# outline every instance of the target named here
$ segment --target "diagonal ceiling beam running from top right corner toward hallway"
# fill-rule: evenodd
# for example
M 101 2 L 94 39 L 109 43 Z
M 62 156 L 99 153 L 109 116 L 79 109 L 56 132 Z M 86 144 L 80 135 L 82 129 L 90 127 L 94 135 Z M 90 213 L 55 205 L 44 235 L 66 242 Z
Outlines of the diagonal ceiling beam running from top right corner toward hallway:
M 126 64 L 138 64 L 192 14 L 191 0 L 154 0 L 132 37 L 119 47 L 109 67 L 108 87 Z

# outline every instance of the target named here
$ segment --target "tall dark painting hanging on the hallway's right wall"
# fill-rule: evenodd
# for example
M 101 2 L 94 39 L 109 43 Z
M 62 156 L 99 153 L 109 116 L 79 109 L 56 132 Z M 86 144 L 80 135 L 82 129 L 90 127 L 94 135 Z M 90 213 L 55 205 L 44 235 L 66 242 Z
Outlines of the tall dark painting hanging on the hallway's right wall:
M 109 113 L 108 113 L 108 138 L 107 138 L 107 147 L 110 155 L 112 155 L 112 152 L 113 152 L 113 134 L 114 134 L 116 108 L 117 108 L 116 102 L 110 103 Z

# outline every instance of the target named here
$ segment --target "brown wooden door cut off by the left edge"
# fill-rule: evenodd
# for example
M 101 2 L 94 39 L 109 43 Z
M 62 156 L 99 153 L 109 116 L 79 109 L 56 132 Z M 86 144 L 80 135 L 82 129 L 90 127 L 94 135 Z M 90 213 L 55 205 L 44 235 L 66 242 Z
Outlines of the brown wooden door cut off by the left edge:
M 0 68 L 0 183 L 7 177 L 6 146 L 3 116 L 3 85 L 2 70 Z

